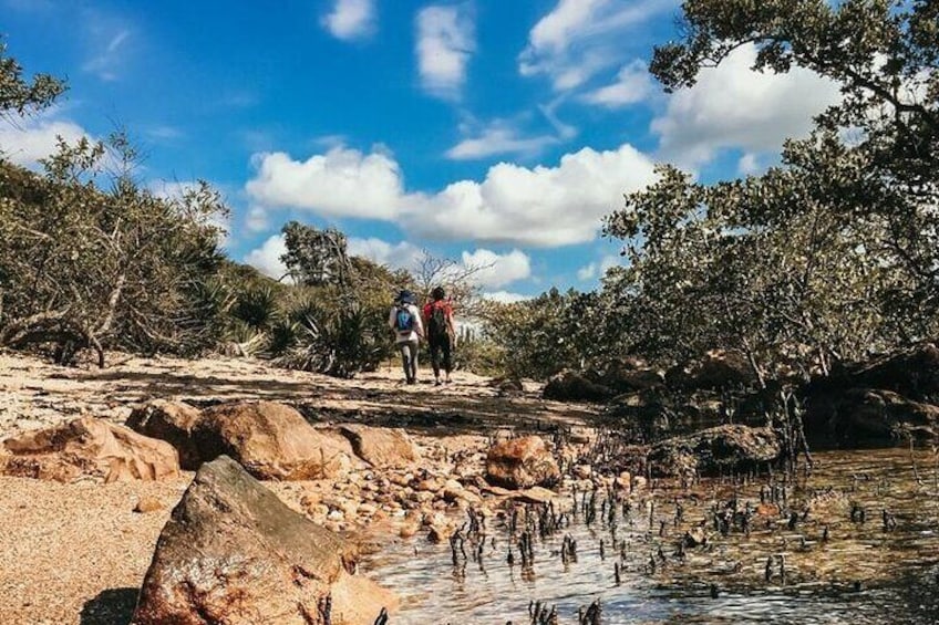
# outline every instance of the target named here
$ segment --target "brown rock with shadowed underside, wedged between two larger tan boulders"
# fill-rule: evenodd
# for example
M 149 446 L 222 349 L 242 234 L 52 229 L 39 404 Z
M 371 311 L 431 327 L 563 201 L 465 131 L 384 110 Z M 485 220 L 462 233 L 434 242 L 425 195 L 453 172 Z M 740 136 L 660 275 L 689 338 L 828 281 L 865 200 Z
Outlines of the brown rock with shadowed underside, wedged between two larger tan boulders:
M 193 440 L 193 429 L 202 418 L 202 410 L 183 402 L 154 399 L 134 408 L 126 426 L 151 438 L 167 441 L 179 454 L 179 466 L 195 471 L 203 459 Z

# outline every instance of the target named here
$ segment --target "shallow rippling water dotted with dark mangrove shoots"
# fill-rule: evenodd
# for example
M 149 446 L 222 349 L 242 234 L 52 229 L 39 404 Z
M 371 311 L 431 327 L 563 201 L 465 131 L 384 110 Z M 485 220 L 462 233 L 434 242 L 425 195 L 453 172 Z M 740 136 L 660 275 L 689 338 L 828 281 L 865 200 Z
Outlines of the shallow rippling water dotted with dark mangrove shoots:
M 532 601 L 555 607 L 559 623 L 576 624 L 578 610 L 595 600 L 600 601 L 602 623 L 608 625 L 939 622 L 936 456 L 885 449 L 825 451 L 814 459 L 808 476 L 786 486 L 785 501 L 782 482 L 773 482 L 781 511 L 764 507 L 762 513 L 752 514 L 749 534 L 735 525 L 723 535 L 714 524 L 714 507 L 721 512 L 736 497 L 739 511 L 745 511 L 747 502 L 756 509 L 761 488 L 764 499 L 771 498 L 768 478 L 746 485 L 702 480 L 690 490 L 659 483 L 628 498 L 629 513 L 623 501 L 617 501 L 612 523 L 598 491 L 597 518 L 589 527 L 585 494 L 577 494 L 576 507 L 574 497 L 567 496 L 558 509 L 566 506 L 577 514 L 550 535 L 535 532 L 530 566 L 519 562 L 524 514 L 514 534 L 507 515 L 485 523 L 482 558 L 476 558 L 478 541 L 467 539 L 468 556 L 457 550 L 455 564 L 450 544 L 431 544 L 419 534 L 363 564 L 373 579 L 403 597 L 402 610 L 392 618 L 395 625 L 527 624 Z M 809 500 L 815 503 L 802 520 Z M 683 508 L 678 521 L 677 504 Z M 793 529 L 790 510 L 798 514 Z M 884 510 L 890 515 L 887 521 Z M 533 520 L 535 515 L 532 512 Z M 701 523 L 706 544 L 685 548 L 682 554 L 679 543 L 685 531 Z M 577 542 L 576 561 L 563 562 L 566 535 Z

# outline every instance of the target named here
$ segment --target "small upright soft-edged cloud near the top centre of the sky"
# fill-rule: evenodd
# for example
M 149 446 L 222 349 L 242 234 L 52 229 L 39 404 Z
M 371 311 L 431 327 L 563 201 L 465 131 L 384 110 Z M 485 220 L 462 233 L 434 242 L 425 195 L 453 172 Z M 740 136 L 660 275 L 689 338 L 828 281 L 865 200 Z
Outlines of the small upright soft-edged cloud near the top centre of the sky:
M 467 4 L 425 7 L 417 13 L 417 70 L 429 93 L 457 98 L 475 50 L 475 23 Z

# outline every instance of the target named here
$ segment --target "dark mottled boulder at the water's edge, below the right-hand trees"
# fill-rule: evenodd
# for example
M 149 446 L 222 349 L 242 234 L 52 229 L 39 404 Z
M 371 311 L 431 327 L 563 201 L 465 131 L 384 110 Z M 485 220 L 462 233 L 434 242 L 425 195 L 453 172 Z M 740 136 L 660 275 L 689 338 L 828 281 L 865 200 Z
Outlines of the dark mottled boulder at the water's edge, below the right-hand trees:
M 762 468 L 781 454 L 771 428 L 723 425 L 657 442 L 648 461 L 656 475 L 712 476 Z

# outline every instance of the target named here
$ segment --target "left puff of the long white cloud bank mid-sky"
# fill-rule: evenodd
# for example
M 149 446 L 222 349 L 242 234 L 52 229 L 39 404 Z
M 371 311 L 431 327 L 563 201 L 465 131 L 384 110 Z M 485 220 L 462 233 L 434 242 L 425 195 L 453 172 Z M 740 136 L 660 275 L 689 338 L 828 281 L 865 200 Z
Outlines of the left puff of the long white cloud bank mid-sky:
M 398 163 L 385 154 L 334 147 L 305 162 L 282 152 L 255 155 L 248 196 L 267 207 L 313 210 L 327 217 L 392 219 L 403 197 Z

